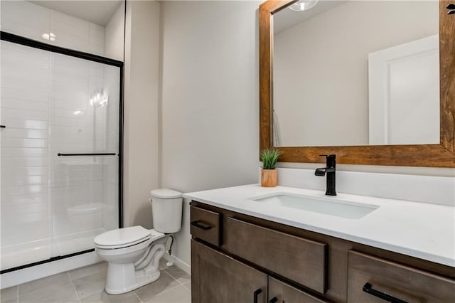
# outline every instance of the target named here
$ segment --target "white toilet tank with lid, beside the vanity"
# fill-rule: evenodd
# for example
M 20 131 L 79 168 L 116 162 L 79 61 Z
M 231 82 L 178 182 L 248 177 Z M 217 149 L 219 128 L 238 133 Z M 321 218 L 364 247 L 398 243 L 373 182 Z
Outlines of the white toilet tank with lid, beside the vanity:
M 182 226 L 182 193 L 160 188 L 150 191 L 154 230 L 177 233 Z

